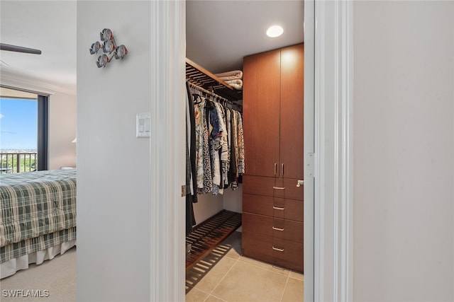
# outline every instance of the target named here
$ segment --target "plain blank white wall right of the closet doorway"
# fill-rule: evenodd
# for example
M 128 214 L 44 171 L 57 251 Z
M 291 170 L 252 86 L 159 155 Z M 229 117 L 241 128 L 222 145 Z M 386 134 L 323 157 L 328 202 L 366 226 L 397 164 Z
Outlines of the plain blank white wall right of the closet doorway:
M 454 301 L 454 3 L 353 23 L 354 301 Z

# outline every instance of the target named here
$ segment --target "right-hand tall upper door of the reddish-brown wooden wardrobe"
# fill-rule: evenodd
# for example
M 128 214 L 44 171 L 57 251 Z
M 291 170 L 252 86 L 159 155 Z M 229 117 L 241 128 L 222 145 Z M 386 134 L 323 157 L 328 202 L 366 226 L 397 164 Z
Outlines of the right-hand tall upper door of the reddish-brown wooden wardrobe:
M 303 95 L 304 45 L 282 48 L 279 168 L 283 178 L 303 179 Z

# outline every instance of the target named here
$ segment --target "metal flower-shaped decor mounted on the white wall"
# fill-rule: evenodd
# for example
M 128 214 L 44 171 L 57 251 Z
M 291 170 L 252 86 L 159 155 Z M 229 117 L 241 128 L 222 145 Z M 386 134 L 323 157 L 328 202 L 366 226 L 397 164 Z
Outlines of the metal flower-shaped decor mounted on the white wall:
M 98 68 L 105 67 L 107 63 L 111 62 L 111 59 L 115 57 L 115 59 L 123 59 L 128 53 L 125 45 L 116 46 L 116 42 L 114 39 L 114 35 L 109 28 L 104 28 L 104 30 L 99 33 L 101 37 L 101 42 L 96 41 L 90 47 L 90 54 L 97 54 L 99 50 L 102 50 L 104 54 L 98 57 L 96 60 L 96 65 Z M 109 57 L 111 55 L 111 57 Z

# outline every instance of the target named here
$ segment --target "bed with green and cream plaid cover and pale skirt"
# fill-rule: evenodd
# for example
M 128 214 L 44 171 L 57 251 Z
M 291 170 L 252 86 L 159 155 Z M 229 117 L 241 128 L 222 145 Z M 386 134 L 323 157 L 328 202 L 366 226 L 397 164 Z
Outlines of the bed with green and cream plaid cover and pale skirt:
M 76 172 L 0 174 L 0 279 L 76 244 Z

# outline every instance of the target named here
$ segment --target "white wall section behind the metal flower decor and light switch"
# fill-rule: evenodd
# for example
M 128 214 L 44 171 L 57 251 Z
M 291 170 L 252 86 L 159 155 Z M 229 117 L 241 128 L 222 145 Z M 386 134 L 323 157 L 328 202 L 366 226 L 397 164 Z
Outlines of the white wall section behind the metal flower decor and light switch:
M 150 22 L 150 1 L 77 1 L 77 301 L 150 301 L 150 139 L 135 137 Z M 129 52 L 99 69 L 89 47 L 104 28 Z

